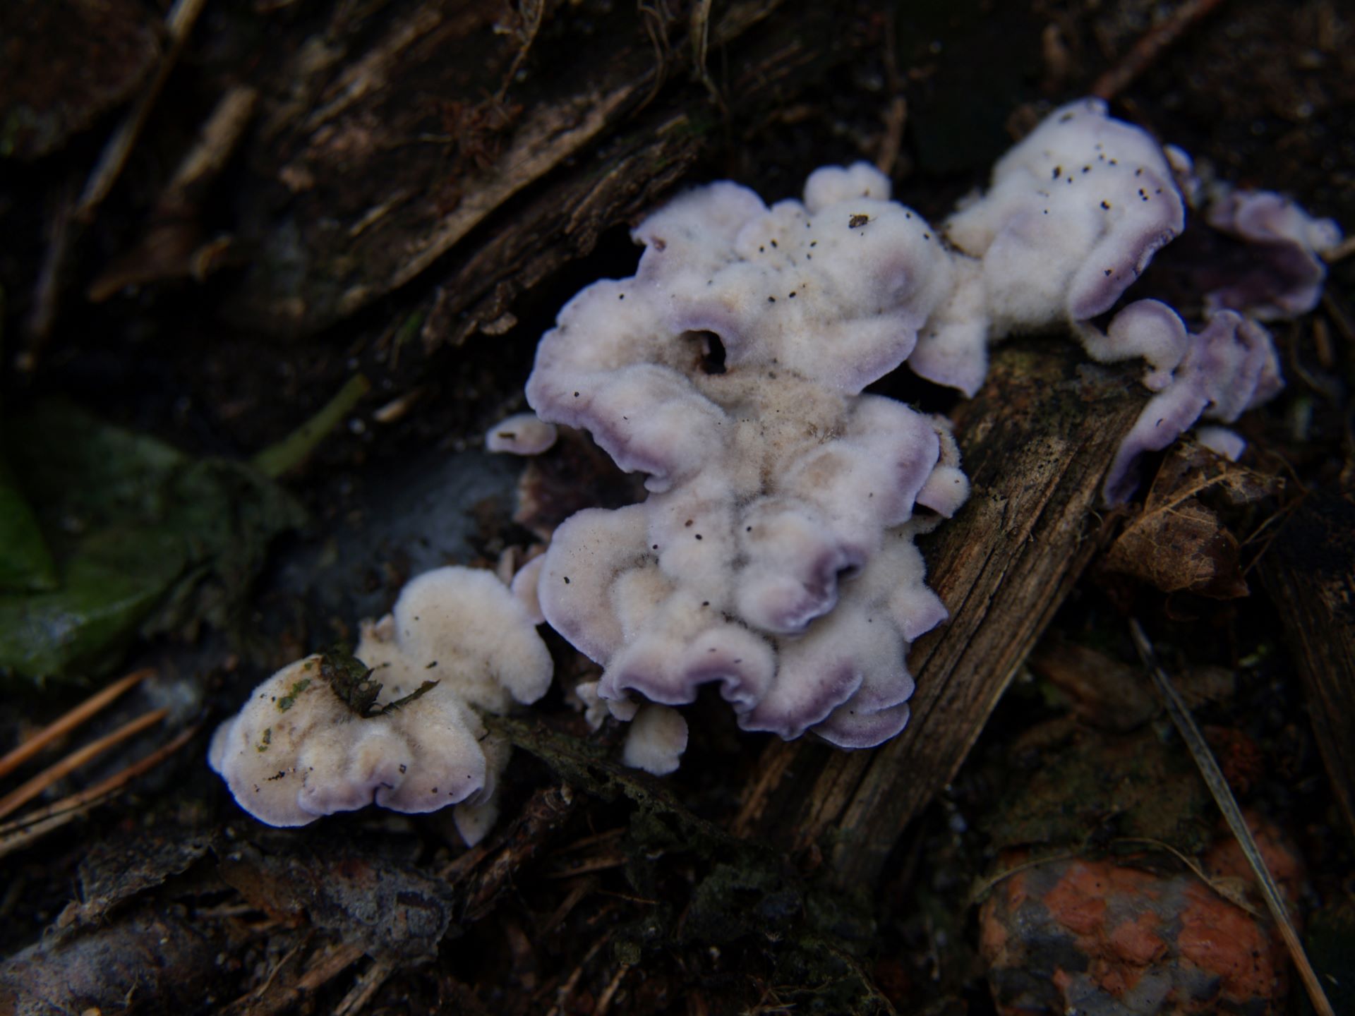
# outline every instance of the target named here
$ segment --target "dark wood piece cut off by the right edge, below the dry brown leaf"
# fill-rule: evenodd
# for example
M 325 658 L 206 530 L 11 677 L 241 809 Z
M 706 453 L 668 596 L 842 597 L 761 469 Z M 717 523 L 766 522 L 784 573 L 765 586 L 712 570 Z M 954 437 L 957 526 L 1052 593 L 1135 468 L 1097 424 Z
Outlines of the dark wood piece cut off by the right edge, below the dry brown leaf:
M 1327 775 L 1355 830 L 1355 504 L 1312 492 L 1260 559 Z

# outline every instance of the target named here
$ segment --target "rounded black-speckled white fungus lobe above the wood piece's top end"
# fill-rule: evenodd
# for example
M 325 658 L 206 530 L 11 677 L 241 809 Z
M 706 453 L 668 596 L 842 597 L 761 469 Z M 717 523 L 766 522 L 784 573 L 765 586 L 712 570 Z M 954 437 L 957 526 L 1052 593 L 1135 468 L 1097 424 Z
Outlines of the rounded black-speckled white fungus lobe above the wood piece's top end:
M 1099 99 L 1056 110 L 997 161 L 988 191 L 943 224 L 974 260 L 959 261 L 961 313 L 928 322 L 908 366 L 973 396 L 989 341 L 1110 310 L 1184 222 L 1152 135 L 1108 117 Z

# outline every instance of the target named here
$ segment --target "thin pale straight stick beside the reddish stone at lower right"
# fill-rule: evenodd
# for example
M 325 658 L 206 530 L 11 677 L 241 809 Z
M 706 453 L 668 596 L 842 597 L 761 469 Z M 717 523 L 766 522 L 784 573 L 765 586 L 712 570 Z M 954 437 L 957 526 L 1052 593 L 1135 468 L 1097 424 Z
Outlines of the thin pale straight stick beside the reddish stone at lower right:
M 1327 1000 L 1327 993 L 1322 992 L 1322 985 L 1318 982 L 1312 963 L 1308 962 L 1308 954 L 1304 952 L 1304 944 L 1298 940 L 1298 932 L 1294 931 L 1294 923 L 1289 920 L 1289 910 L 1285 908 L 1285 901 L 1280 898 L 1279 886 L 1275 885 L 1275 879 L 1271 876 L 1270 868 L 1266 867 L 1266 860 L 1262 858 L 1262 852 L 1256 847 L 1256 840 L 1252 839 L 1252 830 L 1247 828 L 1247 820 L 1243 818 L 1243 810 L 1237 806 L 1237 799 L 1233 797 L 1233 791 L 1229 790 L 1228 780 L 1224 779 L 1224 774 L 1218 768 L 1214 755 L 1209 750 L 1209 745 L 1205 742 L 1205 736 L 1201 734 L 1199 727 L 1195 726 L 1195 721 L 1191 718 L 1190 710 L 1186 707 L 1186 702 L 1172 684 L 1172 679 L 1167 676 L 1167 671 L 1164 671 L 1161 664 L 1157 662 L 1157 654 L 1153 652 L 1153 643 L 1148 641 L 1148 635 L 1144 634 L 1144 629 L 1133 618 L 1129 620 L 1129 631 L 1134 638 L 1134 648 L 1138 649 L 1138 656 L 1142 658 L 1144 666 L 1146 666 L 1149 673 L 1152 673 L 1153 684 L 1157 685 L 1159 694 L 1167 703 L 1167 714 L 1172 718 L 1172 722 L 1180 732 L 1182 738 L 1186 741 L 1186 746 L 1190 748 L 1190 753 L 1195 759 L 1195 764 L 1199 767 L 1201 775 L 1205 778 L 1205 783 L 1209 784 L 1209 792 L 1214 795 L 1214 802 L 1224 813 L 1224 818 L 1228 821 L 1228 828 L 1233 830 L 1233 836 L 1237 837 L 1237 843 L 1243 848 L 1243 855 L 1247 858 L 1247 863 L 1251 864 L 1252 871 L 1256 872 L 1256 879 L 1262 887 L 1262 895 L 1266 898 L 1266 906 L 1270 909 L 1271 917 L 1275 918 L 1275 924 L 1279 925 L 1280 937 L 1285 939 L 1285 946 L 1289 948 L 1289 954 L 1294 958 L 1294 966 L 1298 967 L 1298 975 L 1304 981 L 1304 988 L 1308 989 L 1308 997 L 1312 1000 L 1313 1008 L 1317 1011 L 1318 1016 L 1335 1016 L 1332 1004 Z

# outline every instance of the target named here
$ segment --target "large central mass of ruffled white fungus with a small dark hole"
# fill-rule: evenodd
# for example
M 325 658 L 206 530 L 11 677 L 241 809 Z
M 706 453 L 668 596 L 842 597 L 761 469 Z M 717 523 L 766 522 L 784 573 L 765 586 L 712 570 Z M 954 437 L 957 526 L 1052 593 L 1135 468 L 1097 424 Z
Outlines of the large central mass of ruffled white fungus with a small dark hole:
M 864 164 L 770 209 L 711 184 L 634 236 L 634 278 L 569 302 L 527 401 L 650 494 L 556 531 L 542 612 L 622 718 L 713 683 L 748 730 L 878 744 L 908 718 L 908 642 L 946 616 L 915 507 L 950 513 L 967 481 L 943 421 L 860 390 L 953 298 L 955 259 Z

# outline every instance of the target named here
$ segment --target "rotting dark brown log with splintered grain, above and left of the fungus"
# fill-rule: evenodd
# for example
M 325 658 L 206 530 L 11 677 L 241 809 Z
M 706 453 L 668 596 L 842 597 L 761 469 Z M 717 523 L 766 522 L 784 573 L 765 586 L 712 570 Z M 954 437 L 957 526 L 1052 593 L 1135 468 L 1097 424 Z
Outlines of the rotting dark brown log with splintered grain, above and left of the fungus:
M 489 31 L 495 8 L 408 9 L 333 84 L 267 118 L 251 161 L 293 196 L 255 237 L 260 257 L 233 313 L 271 332 L 310 332 L 449 256 L 449 271 L 436 271 L 447 295 L 435 305 L 455 322 L 449 337 L 497 320 L 602 229 L 652 205 L 722 137 L 726 117 L 748 129 L 859 45 L 840 11 L 805 4 L 782 16 L 782 7 L 791 4 L 736 3 L 705 26 L 726 68 L 724 110 L 694 102 L 695 84 L 654 100 L 669 70 L 663 54 L 691 49 L 675 41 L 687 30 L 676 18 L 656 26 L 626 9 L 583 30 L 557 11 L 558 38 L 533 43 L 549 73 L 518 85 L 493 76 L 511 72 L 519 45 Z M 297 57 L 317 61 L 316 47 Z

